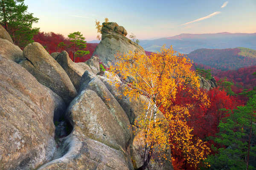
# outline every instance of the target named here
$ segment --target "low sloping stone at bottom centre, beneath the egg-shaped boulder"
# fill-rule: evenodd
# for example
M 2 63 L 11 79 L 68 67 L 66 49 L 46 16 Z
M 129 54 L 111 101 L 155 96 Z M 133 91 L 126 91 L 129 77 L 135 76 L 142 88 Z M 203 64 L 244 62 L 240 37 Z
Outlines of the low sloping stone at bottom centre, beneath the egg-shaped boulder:
M 121 151 L 89 139 L 79 127 L 66 137 L 64 145 L 67 153 L 39 170 L 133 170 Z

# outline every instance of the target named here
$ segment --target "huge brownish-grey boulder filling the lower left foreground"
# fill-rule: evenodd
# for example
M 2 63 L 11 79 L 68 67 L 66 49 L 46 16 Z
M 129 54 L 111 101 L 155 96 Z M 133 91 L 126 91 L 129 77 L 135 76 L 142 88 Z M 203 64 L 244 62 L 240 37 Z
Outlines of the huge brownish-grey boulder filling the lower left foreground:
M 2 56 L 0 80 L 0 169 L 36 169 L 52 159 L 53 117 L 64 112 L 64 101 Z

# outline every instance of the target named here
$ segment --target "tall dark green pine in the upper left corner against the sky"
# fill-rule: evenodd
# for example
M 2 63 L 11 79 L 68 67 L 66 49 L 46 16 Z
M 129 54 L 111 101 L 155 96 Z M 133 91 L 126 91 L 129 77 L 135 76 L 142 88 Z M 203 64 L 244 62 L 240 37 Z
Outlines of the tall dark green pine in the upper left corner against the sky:
M 33 36 L 39 31 L 39 28 L 32 28 L 32 23 L 37 23 L 39 19 L 27 9 L 24 0 L 0 0 L 0 24 L 20 48 L 33 42 Z

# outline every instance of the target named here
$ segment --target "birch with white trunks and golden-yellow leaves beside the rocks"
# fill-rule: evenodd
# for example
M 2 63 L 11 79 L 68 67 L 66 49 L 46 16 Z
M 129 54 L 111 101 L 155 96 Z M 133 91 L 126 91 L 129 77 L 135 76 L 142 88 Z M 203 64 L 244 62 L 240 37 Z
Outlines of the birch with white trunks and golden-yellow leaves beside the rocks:
M 143 95 L 148 100 L 148 110 L 135 121 L 138 130 L 145 134 L 144 163 L 139 170 L 147 167 L 153 152 L 167 148 L 180 149 L 184 159 L 196 167 L 206 158 L 209 148 L 193 136 L 192 128 L 186 122 L 190 117 L 189 108 L 194 105 L 175 103 L 176 94 L 182 89 L 197 100 L 198 105 L 208 107 L 210 103 L 207 95 L 199 89 L 199 79 L 191 71 L 190 60 L 165 47 L 149 57 L 130 51 L 117 55 L 116 59 L 118 62 L 111 71 L 120 75 L 122 83 L 127 85 L 122 93 L 130 98 Z M 133 80 L 127 81 L 127 77 Z M 119 85 L 116 83 L 117 89 Z M 164 117 L 161 118 L 157 108 L 161 108 Z

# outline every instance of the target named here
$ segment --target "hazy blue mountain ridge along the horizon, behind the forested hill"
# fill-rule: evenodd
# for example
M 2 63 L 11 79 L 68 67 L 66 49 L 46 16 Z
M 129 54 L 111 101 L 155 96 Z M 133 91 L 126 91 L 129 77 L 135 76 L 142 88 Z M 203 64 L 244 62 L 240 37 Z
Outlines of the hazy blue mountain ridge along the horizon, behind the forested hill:
M 188 54 L 199 48 L 236 48 L 244 47 L 256 50 L 256 33 L 216 33 L 216 34 L 180 34 L 155 40 L 140 40 L 145 51 L 160 51 L 164 44 L 180 53 Z

